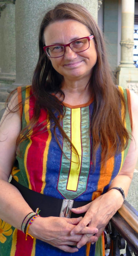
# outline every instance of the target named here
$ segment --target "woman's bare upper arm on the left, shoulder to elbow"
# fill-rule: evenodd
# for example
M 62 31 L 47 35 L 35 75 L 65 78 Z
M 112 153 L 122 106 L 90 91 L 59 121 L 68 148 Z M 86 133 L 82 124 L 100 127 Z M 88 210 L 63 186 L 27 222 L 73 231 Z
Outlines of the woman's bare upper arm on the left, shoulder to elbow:
M 8 180 L 16 155 L 16 141 L 21 131 L 17 93 L 11 98 L 0 122 L 0 178 Z

